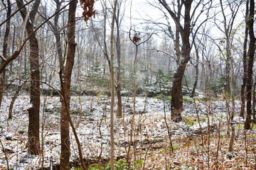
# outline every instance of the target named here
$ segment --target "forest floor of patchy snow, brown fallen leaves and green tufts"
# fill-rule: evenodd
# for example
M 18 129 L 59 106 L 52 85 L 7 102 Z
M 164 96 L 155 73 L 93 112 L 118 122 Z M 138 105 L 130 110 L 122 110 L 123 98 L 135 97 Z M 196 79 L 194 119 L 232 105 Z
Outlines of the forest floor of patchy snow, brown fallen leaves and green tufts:
M 133 114 L 133 98 L 123 97 L 122 100 L 124 118 L 114 120 L 117 169 L 127 167 L 126 155 Z M 11 96 L 4 96 L 0 109 L 0 169 L 7 169 L 3 147 L 10 169 L 47 168 L 50 158 L 57 166 L 60 160 L 60 98 L 41 98 L 40 134 L 43 152 L 39 156 L 28 154 L 26 148 L 29 96 L 17 98 L 14 116 L 8 120 L 10 103 Z M 236 106 L 235 111 L 238 113 L 239 101 L 236 101 Z M 169 102 L 164 104 L 164 101 L 156 98 L 136 98 L 131 169 L 256 169 L 255 125 L 252 130 L 243 130 L 244 120 L 238 114 L 235 114 L 234 119 L 233 152 L 228 152 L 230 138 L 227 135 L 224 101 L 193 102 L 193 99 L 186 98 L 181 123 L 171 122 L 169 108 Z M 109 168 L 110 98 L 73 96 L 71 113 L 87 166 L 90 169 L 99 169 L 99 166 Z M 70 132 L 70 162 L 73 169 L 78 169 L 78 149 L 71 129 Z

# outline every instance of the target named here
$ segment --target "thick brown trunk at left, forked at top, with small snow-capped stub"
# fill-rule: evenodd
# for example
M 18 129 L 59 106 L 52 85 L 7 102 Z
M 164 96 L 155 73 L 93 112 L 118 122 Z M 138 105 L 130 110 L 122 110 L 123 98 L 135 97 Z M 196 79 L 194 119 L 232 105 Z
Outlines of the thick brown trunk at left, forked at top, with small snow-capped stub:
M 38 10 L 40 0 L 36 0 L 29 14 L 30 20 L 27 21 L 26 31 L 28 35 L 31 35 L 29 39 L 30 47 L 30 69 L 31 69 L 31 95 L 30 95 L 30 107 L 28 108 L 28 153 L 39 154 L 39 111 L 40 111 L 40 70 L 39 70 L 39 53 L 38 53 L 38 40 L 36 39 L 36 33 L 33 33 L 33 19 Z M 17 0 L 18 8 L 23 6 L 23 0 Z M 20 11 L 23 21 L 26 20 L 26 8 Z M 32 34 L 33 33 L 33 34 Z

